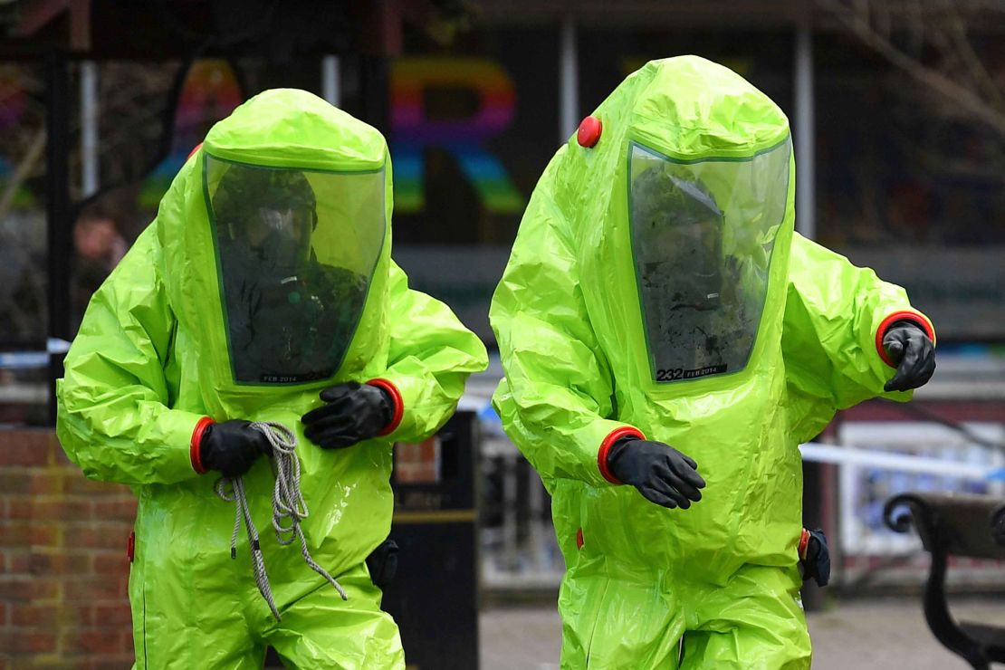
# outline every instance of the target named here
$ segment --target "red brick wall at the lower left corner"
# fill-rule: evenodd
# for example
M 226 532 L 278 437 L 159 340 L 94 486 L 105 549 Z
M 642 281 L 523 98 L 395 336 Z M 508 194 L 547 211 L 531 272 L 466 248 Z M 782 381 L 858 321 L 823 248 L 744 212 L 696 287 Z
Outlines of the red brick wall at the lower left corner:
M 0 430 L 0 670 L 128 668 L 129 488 L 87 481 L 50 430 Z

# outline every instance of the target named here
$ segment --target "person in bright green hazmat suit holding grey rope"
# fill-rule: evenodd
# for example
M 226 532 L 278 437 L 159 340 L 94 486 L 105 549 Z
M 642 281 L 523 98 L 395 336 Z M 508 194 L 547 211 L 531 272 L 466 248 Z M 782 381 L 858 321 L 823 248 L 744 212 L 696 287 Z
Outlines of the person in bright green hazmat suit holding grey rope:
M 487 359 L 391 259 L 391 193 L 377 130 L 262 92 L 213 126 L 91 299 L 57 432 L 86 476 L 139 497 L 136 667 L 260 667 L 266 646 L 289 667 L 404 667 L 366 564 L 390 530 L 391 447 L 435 432 Z M 303 551 L 271 533 L 228 547 L 234 482 L 257 527 L 273 515 L 281 455 L 252 422 L 297 443 Z

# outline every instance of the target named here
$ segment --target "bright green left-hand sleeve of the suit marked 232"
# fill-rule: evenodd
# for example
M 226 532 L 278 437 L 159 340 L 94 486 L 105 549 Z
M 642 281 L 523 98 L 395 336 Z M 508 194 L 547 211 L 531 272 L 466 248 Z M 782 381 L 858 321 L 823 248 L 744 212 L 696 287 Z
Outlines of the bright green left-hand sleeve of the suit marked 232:
M 620 483 L 607 470 L 618 437 L 612 375 L 579 284 L 575 246 L 548 190 L 535 190 L 489 316 L 505 379 L 492 404 L 543 478 Z

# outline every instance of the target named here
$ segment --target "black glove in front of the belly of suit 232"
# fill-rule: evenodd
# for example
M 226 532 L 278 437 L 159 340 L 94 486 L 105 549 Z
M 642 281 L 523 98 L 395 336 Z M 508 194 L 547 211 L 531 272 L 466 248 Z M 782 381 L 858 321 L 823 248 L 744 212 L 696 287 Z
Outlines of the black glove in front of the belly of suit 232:
M 687 509 L 701 499 L 697 489 L 705 487 L 705 479 L 697 463 L 662 442 L 623 437 L 607 452 L 607 467 L 657 505 Z

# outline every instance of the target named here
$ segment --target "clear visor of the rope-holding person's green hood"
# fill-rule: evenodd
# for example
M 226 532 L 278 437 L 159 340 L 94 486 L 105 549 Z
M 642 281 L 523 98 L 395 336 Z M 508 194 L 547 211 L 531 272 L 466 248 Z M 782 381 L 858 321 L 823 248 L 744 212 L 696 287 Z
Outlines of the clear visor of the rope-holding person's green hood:
M 384 173 L 205 158 L 234 381 L 327 379 L 345 358 L 384 241 Z

